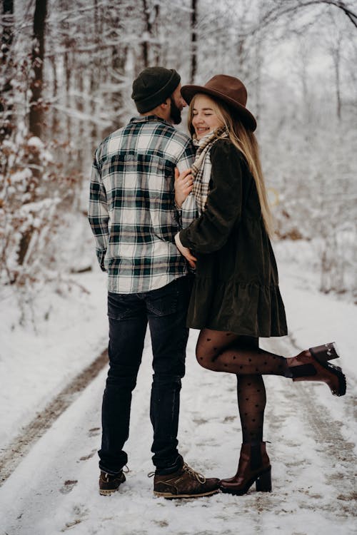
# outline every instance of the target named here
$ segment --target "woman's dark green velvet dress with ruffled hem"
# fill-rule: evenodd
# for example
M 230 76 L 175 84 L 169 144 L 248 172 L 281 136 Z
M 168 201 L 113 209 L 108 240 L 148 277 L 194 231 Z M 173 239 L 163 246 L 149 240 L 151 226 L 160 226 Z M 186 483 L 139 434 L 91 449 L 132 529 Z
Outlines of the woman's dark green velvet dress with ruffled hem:
M 246 159 L 225 139 L 214 143 L 210 156 L 206 210 L 180 232 L 197 258 L 187 325 L 253 337 L 286 335 L 276 260 Z

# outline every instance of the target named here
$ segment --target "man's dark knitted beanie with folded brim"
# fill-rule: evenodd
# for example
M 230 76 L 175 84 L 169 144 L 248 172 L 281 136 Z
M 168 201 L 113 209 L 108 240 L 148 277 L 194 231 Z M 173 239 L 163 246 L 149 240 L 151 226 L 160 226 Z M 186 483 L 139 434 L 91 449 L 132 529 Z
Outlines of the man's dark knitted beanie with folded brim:
M 174 68 L 148 67 L 133 82 L 133 93 L 139 113 L 151 111 L 174 93 L 181 81 Z

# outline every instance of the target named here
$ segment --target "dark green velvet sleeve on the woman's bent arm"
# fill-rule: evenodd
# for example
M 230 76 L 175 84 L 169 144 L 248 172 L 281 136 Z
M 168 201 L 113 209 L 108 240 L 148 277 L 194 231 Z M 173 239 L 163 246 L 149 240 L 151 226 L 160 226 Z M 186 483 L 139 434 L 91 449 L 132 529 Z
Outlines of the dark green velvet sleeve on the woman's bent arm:
M 241 153 L 230 141 L 219 140 L 211 149 L 211 190 L 202 215 L 181 230 L 184 247 L 197 253 L 213 253 L 228 240 L 234 223 L 241 217 Z

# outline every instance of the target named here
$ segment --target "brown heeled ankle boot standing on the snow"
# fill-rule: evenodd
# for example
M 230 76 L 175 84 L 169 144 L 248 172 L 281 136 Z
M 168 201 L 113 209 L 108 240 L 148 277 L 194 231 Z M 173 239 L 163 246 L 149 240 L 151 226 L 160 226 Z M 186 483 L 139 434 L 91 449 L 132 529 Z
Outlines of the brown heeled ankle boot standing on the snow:
M 254 481 L 257 491 L 271 491 L 271 464 L 265 442 L 242 444 L 236 475 L 221 479 L 219 488 L 222 492 L 241 496 L 248 492 Z

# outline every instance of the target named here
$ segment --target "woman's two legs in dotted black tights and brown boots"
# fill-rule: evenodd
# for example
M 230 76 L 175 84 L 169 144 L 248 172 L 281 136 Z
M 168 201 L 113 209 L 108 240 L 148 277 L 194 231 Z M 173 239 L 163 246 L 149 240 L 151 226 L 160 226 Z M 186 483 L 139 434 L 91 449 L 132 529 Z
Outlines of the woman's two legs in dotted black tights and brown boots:
M 313 347 L 296 357 L 263 351 L 258 339 L 242 337 L 233 332 L 203 329 L 198 337 L 196 357 L 208 370 L 234 373 L 237 377 L 238 407 L 243 444 L 236 475 L 221 479 L 220 488 L 230 494 L 245 494 L 256 482 L 257 491 L 271 490 L 271 465 L 263 442 L 263 418 L 266 392 L 263 374 L 291 377 L 293 380 L 326 382 L 331 392 L 343 395 L 346 379 L 338 367 L 328 360 L 338 355 L 332 344 Z

